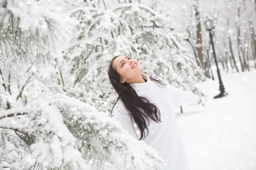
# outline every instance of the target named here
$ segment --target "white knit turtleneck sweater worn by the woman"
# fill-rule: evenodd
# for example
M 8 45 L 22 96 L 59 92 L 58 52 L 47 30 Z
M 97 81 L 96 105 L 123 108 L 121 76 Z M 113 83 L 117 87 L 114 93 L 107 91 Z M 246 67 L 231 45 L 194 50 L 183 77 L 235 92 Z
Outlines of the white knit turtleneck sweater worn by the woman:
M 151 103 L 154 103 L 159 108 L 161 113 L 161 122 L 157 123 L 151 120 L 147 131 L 145 131 L 145 143 L 153 147 L 160 154 L 162 154 L 165 161 L 165 166 L 161 170 L 189 170 L 186 152 L 173 113 L 173 106 L 175 105 L 190 105 L 199 102 L 199 97 L 192 93 L 192 91 L 182 91 L 179 88 L 172 87 L 166 81 L 166 85 L 160 87 L 150 80 L 147 74 L 141 74 L 147 82 L 131 83 L 130 85 L 137 92 L 139 96 L 144 96 Z M 140 139 L 140 130 L 134 123 L 132 126 L 130 115 L 119 100 L 117 102 L 113 118 L 120 122 L 125 130 L 135 139 Z

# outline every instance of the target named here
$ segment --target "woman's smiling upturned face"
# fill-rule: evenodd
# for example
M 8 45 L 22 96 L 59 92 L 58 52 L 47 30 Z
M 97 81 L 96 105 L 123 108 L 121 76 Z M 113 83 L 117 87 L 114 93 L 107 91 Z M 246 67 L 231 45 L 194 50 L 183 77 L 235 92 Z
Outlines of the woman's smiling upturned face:
M 134 65 L 136 63 L 137 65 Z M 132 68 L 132 66 L 135 66 Z M 116 57 L 113 61 L 113 68 L 116 68 L 117 73 L 121 76 L 121 83 L 130 83 L 134 77 L 141 74 L 142 66 L 136 59 L 131 59 L 128 56 Z

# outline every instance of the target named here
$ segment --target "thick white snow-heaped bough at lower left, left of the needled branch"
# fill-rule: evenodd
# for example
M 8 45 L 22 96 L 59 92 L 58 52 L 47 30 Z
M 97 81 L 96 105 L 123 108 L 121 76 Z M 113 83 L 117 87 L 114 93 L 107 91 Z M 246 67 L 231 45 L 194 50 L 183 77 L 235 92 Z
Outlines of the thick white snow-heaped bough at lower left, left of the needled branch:
M 67 129 L 61 112 L 52 101 L 54 99 L 51 97 L 38 98 L 30 104 L 36 109 L 28 116 L 39 127 L 37 130 L 40 134 L 38 141 L 30 147 L 31 158 L 51 168 L 88 169 L 83 156 L 75 147 L 76 138 Z

